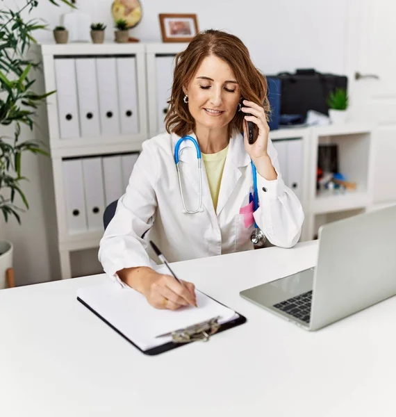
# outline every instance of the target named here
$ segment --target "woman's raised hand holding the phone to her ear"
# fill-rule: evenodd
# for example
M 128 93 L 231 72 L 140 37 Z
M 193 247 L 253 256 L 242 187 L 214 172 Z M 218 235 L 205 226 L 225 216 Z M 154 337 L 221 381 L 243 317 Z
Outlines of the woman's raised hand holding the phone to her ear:
M 270 126 L 265 117 L 263 107 L 253 101 L 243 100 L 244 107 L 241 108 L 243 113 L 250 113 L 251 116 L 245 115 L 245 122 L 243 124 L 243 138 L 245 144 L 245 151 L 249 154 L 251 161 L 257 168 L 257 172 L 266 179 L 277 179 L 277 172 L 272 166 L 271 159 L 267 154 L 268 134 L 270 133 Z M 253 144 L 249 144 L 247 140 L 247 122 L 253 122 L 258 127 L 258 136 Z

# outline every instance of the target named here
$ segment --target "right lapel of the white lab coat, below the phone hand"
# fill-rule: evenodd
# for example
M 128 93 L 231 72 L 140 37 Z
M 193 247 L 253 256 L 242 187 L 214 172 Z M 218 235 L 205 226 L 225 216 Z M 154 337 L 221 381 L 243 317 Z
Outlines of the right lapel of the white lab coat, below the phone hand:
M 242 135 L 238 132 L 233 134 L 229 142 L 226 163 L 220 184 L 219 199 L 217 202 L 216 214 L 219 215 L 226 202 L 231 197 L 238 180 L 242 176 L 241 167 L 246 167 L 250 163 L 250 156 L 245 151 Z

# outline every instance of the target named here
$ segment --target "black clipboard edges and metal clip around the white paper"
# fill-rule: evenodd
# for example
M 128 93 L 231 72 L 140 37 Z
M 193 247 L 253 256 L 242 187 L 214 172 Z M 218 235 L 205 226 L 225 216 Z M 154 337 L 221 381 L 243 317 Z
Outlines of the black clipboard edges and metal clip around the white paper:
M 209 295 L 206 295 L 202 293 L 206 297 L 210 298 L 211 300 L 217 302 L 221 306 L 226 307 L 221 302 L 218 302 L 213 297 L 210 297 Z M 162 345 L 156 345 L 155 347 L 149 347 L 147 350 L 142 349 L 137 343 L 135 343 L 129 336 L 126 336 L 124 332 L 120 331 L 117 326 L 115 326 L 112 322 L 107 320 L 97 309 L 94 309 L 92 306 L 90 306 L 87 302 L 82 300 L 79 295 L 77 295 L 77 300 L 83 304 L 87 309 L 92 311 L 95 316 L 100 318 L 102 321 L 106 323 L 111 329 L 113 329 L 117 334 L 122 336 L 126 341 L 129 341 L 134 347 L 136 347 L 140 352 L 143 354 L 147 354 L 149 356 L 154 356 L 157 354 L 161 354 L 163 352 L 167 352 L 169 350 L 176 349 L 177 347 L 181 347 L 183 345 L 188 345 L 190 343 L 195 343 L 197 341 L 203 341 L 207 342 L 210 340 L 211 337 L 215 336 L 215 334 L 224 332 L 225 330 L 232 329 L 233 327 L 237 327 L 239 325 L 244 324 L 247 322 L 247 319 L 242 316 L 240 313 L 237 313 L 235 311 L 235 318 L 232 318 L 228 322 L 225 322 L 224 324 L 220 324 L 217 322 L 217 317 L 212 318 L 211 320 L 205 320 L 204 322 L 195 323 L 195 325 L 192 325 L 190 327 L 185 327 L 182 329 L 175 330 L 172 332 L 172 341 L 168 341 L 169 338 L 167 338 L 167 342 L 163 343 Z M 154 308 L 151 307 L 150 308 Z M 226 307 L 228 308 L 228 307 Z M 165 334 L 160 336 L 167 336 Z M 158 337 L 158 336 L 157 336 Z

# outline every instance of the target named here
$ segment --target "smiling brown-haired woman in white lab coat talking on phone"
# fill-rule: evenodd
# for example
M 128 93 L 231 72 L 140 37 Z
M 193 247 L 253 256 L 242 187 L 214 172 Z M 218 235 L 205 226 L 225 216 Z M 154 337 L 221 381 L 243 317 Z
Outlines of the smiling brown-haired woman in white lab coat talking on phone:
M 176 56 L 167 133 L 143 143 L 99 249 L 105 272 L 152 306 L 174 310 L 196 300 L 193 284 L 151 269 L 156 263 L 146 252 L 149 239 L 168 261 L 254 249 L 254 222 L 273 245 L 297 243 L 304 213 L 283 182 L 268 138 L 266 93 L 265 77 L 236 36 L 205 31 Z M 252 145 L 247 122 L 256 126 Z M 181 141 L 179 183 L 174 150 L 186 135 L 197 140 L 204 167 L 197 167 L 194 143 Z

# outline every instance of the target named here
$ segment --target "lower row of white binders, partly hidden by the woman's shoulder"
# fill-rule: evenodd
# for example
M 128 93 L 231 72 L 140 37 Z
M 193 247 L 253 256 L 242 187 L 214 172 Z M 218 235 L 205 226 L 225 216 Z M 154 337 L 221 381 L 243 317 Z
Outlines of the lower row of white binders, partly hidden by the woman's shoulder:
M 126 190 L 138 154 L 72 158 L 62 161 L 70 234 L 103 230 L 103 213 Z

